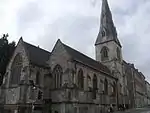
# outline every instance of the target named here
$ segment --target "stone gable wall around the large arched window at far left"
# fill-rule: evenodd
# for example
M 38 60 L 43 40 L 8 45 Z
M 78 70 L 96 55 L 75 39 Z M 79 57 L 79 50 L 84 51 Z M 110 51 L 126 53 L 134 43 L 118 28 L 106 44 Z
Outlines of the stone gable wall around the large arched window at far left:
M 19 102 L 20 99 L 20 86 L 15 86 L 14 88 L 10 87 L 10 76 L 11 76 L 11 66 L 12 63 L 14 61 L 15 56 L 19 53 L 21 54 L 22 60 L 23 60 L 23 68 L 24 67 L 28 67 L 29 66 L 29 62 L 28 62 L 28 57 L 27 54 L 25 52 L 25 49 L 22 45 L 22 41 L 20 40 L 17 48 L 15 49 L 15 52 L 7 66 L 7 70 L 6 70 L 6 74 L 4 76 L 4 87 L 5 87 L 5 94 L 6 94 L 6 104 L 16 104 L 17 102 Z M 29 73 L 29 70 L 27 70 L 27 73 Z M 22 69 L 22 73 L 20 78 L 24 76 L 24 72 Z

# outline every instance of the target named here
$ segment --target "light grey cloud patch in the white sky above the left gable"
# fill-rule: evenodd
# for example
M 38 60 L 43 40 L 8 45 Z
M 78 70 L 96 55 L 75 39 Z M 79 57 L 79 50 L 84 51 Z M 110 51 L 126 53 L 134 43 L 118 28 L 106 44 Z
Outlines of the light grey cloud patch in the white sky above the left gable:
M 28 2 L 17 12 L 18 30 L 24 31 L 44 17 L 44 12 L 37 2 Z

